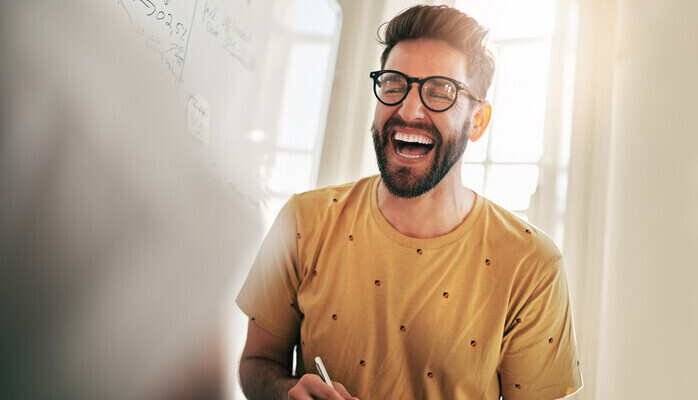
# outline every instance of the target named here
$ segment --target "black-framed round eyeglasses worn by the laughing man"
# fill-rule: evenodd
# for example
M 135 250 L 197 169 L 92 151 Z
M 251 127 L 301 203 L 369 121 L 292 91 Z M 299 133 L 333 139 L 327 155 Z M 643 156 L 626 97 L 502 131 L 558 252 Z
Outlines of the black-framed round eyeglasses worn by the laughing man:
M 412 83 L 419 84 L 419 98 L 422 104 L 434 112 L 443 112 L 453 107 L 461 90 L 477 101 L 482 100 L 463 82 L 445 76 L 410 78 L 400 71 L 388 69 L 373 71 L 369 76 L 373 78 L 373 93 L 378 101 L 386 106 L 394 106 L 405 100 Z

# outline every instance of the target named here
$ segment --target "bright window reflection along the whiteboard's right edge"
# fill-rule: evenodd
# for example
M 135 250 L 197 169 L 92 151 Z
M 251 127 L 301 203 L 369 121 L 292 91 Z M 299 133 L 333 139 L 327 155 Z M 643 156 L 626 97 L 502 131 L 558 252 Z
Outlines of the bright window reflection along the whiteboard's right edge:
M 293 40 L 279 57 L 286 60 L 286 77 L 278 88 L 281 118 L 274 162 L 265 180 L 270 218 L 293 193 L 310 190 L 317 181 L 341 24 L 334 2 L 297 0 L 293 4 L 286 23 L 276 28 L 282 30 L 277 32 L 280 37 Z

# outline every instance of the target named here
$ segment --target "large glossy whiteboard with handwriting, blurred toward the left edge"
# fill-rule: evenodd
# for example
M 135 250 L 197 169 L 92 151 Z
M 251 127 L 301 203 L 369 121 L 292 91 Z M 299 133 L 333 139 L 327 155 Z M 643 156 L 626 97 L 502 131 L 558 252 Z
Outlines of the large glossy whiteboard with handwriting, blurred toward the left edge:
M 24 0 L 0 20 L 0 311 L 22 360 L 3 389 L 144 398 L 199 369 L 264 217 L 313 186 L 339 8 Z

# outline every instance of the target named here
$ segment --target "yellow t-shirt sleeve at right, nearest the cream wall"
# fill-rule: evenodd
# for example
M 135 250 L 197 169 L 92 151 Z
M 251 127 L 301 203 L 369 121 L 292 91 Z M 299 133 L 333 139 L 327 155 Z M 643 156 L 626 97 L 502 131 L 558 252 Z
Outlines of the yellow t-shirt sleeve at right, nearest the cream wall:
M 523 302 L 502 342 L 505 400 L 559 399 L 582 386 L 567 280 L 558 257 Z

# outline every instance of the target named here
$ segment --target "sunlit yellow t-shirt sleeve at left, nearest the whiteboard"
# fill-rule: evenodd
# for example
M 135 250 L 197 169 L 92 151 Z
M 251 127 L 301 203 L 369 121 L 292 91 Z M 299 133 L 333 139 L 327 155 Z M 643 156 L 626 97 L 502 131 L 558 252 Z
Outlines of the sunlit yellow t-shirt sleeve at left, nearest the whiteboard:
M 252 323 L 291 340 L 300 329 L 296 294 L 301 279 L 294 201 L 295 196 L 276 217 L 236 299 Z

